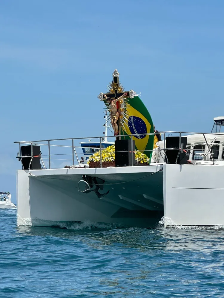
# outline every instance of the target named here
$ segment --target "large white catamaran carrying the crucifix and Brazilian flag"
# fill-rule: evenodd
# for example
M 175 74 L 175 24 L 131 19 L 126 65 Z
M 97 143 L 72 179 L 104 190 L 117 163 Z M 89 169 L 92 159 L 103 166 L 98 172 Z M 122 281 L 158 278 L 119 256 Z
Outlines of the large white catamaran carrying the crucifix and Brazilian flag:
M 118 75 L 113 76 L 115 87 Z M 113 91 L 111 88 L 116 99 L 116 89 Z M 154 132 L 152 122 L 150 126 L 142 124 L 141 119 L 146 122 L 148 117 L 143 108 L 141 119 L 140 110 L 134 116 L 135 100 L 139 97 L 135 93 L 131 97 L 133 91 L 129 92 L 129 99 L 133 101 L 130 100 L 130 107 L 127 105 L 129 116 L 124 114 L 129 130 L 122 134 L 119 127 L 115 148 L 116 142 L 129 137 L 138 150 L 151 157 L 150 164 L 136 165 L 131 142 L 131 150 L 127 150 L 131 159 L 126 166 L 117 164 L 115 153 L 116 166 L 103 167 L 102 150 L 113 144 L 115 136 L 88 137 L 82 142 L 76 138 L 15 142 L 19 143 L 17 158 L 23 167 L 17 170 L 17 225 L 50 226 L 63 221 L 91 221 L 155 227 L 161 218 L 164 226 L 224 225 L 224 133 L 221 132 L 224 117 L 214 118 L 211 133 L 162 131 L 161 140 L 153 149 L 148 144 L 158 132 Z M 100 96 L 102 99 L 103 95 Z M 121 100 L 120 103 L 122 105 Z M 138 106 L 141 104 L 139 102 Z M 119 111 L 122 112 L 123 107 Z M 107 142 L 108 138 L 111 142 Z M 141 149 L 144 140 L 148 143 Z M 56 148 L 64 151 L 53 152 Z M 84 149 L 81 154 L 85 157 L 81 159 L 79 149 Z M 95 153 L 92 150 L 101 152 L 100 167 L 82 165 Z M 61 154 L 72 156 L 70 165 L 53 164 L 54 157 Z M 44 158 L 47 158 L 48 168 Z

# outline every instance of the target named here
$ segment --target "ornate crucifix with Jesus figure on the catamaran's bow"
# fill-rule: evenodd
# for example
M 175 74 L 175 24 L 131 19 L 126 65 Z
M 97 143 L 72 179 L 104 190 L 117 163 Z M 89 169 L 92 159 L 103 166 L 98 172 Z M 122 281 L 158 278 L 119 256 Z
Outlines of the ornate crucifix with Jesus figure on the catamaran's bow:
M 123 103 L 123 98 L 129 98 L 129 91 L 123 91 L 122 85 L 119 84 L 119 72 L 117 69 L 113 72 L 113 81 L 110 83 L 110 93 L 100 93 L 98 98 L 100 100 L 107 100 L 110 105 L 110 114 L 111 114 L 111 124 L 113 126 L 114 135 L 117 136 L 121 134 L 121 125 L 120 121 L 122 120 L 123 115 L 121 107 Z M 121 137 L 116 137 L 119 140 Z

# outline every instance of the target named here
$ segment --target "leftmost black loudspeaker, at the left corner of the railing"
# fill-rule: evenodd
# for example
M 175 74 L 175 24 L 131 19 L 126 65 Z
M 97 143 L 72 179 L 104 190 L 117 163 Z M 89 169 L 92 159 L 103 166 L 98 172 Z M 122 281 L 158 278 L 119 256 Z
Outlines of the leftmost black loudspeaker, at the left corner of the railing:
M 31 156 L 31 145 L 21 146 L 21 154 L 22 156 Z M 21 158 L 24 170 L 29 170 L 29 164 L 30 164 L 30 170 L 41 170 L 40 146 L 33 145 L 33 156 L 37 156 L 37 157 L 33 157 L 31 164 L 30 164 L 29 157 Z

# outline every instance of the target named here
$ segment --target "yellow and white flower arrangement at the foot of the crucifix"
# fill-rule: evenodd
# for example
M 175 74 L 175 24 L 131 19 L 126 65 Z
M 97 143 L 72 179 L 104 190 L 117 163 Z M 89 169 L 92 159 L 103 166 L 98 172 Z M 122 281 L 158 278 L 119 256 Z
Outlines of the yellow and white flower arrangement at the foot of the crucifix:
M 149 164 L 149 161 L 150 161 L 150 159 L 146 154 L 138 150 L 135 150 L 135 160 L 137 164 L 140 164 L 140 165 Z M 96 166 L 99 166 L 100 151 L 91 155 L 87 163 L 89 165 L 91 165 L 91 163 L 95 163 Z M 102 165 L 115 167 L 115 146 L 114 145 L 111 145 L 102 150 Z

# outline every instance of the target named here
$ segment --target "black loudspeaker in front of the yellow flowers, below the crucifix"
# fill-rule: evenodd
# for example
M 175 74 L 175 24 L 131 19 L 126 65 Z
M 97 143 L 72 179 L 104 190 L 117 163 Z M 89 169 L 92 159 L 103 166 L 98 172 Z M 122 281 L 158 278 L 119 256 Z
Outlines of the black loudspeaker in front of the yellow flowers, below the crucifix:
M 132 141 L 133 151 L 135 150 L 135 141 Z M 131 140 L 116 140 L 115 143 L 115 167 L 131 166 L 132 156 L 133 165 L 135 162 L 135 153 L 131 152 Z

